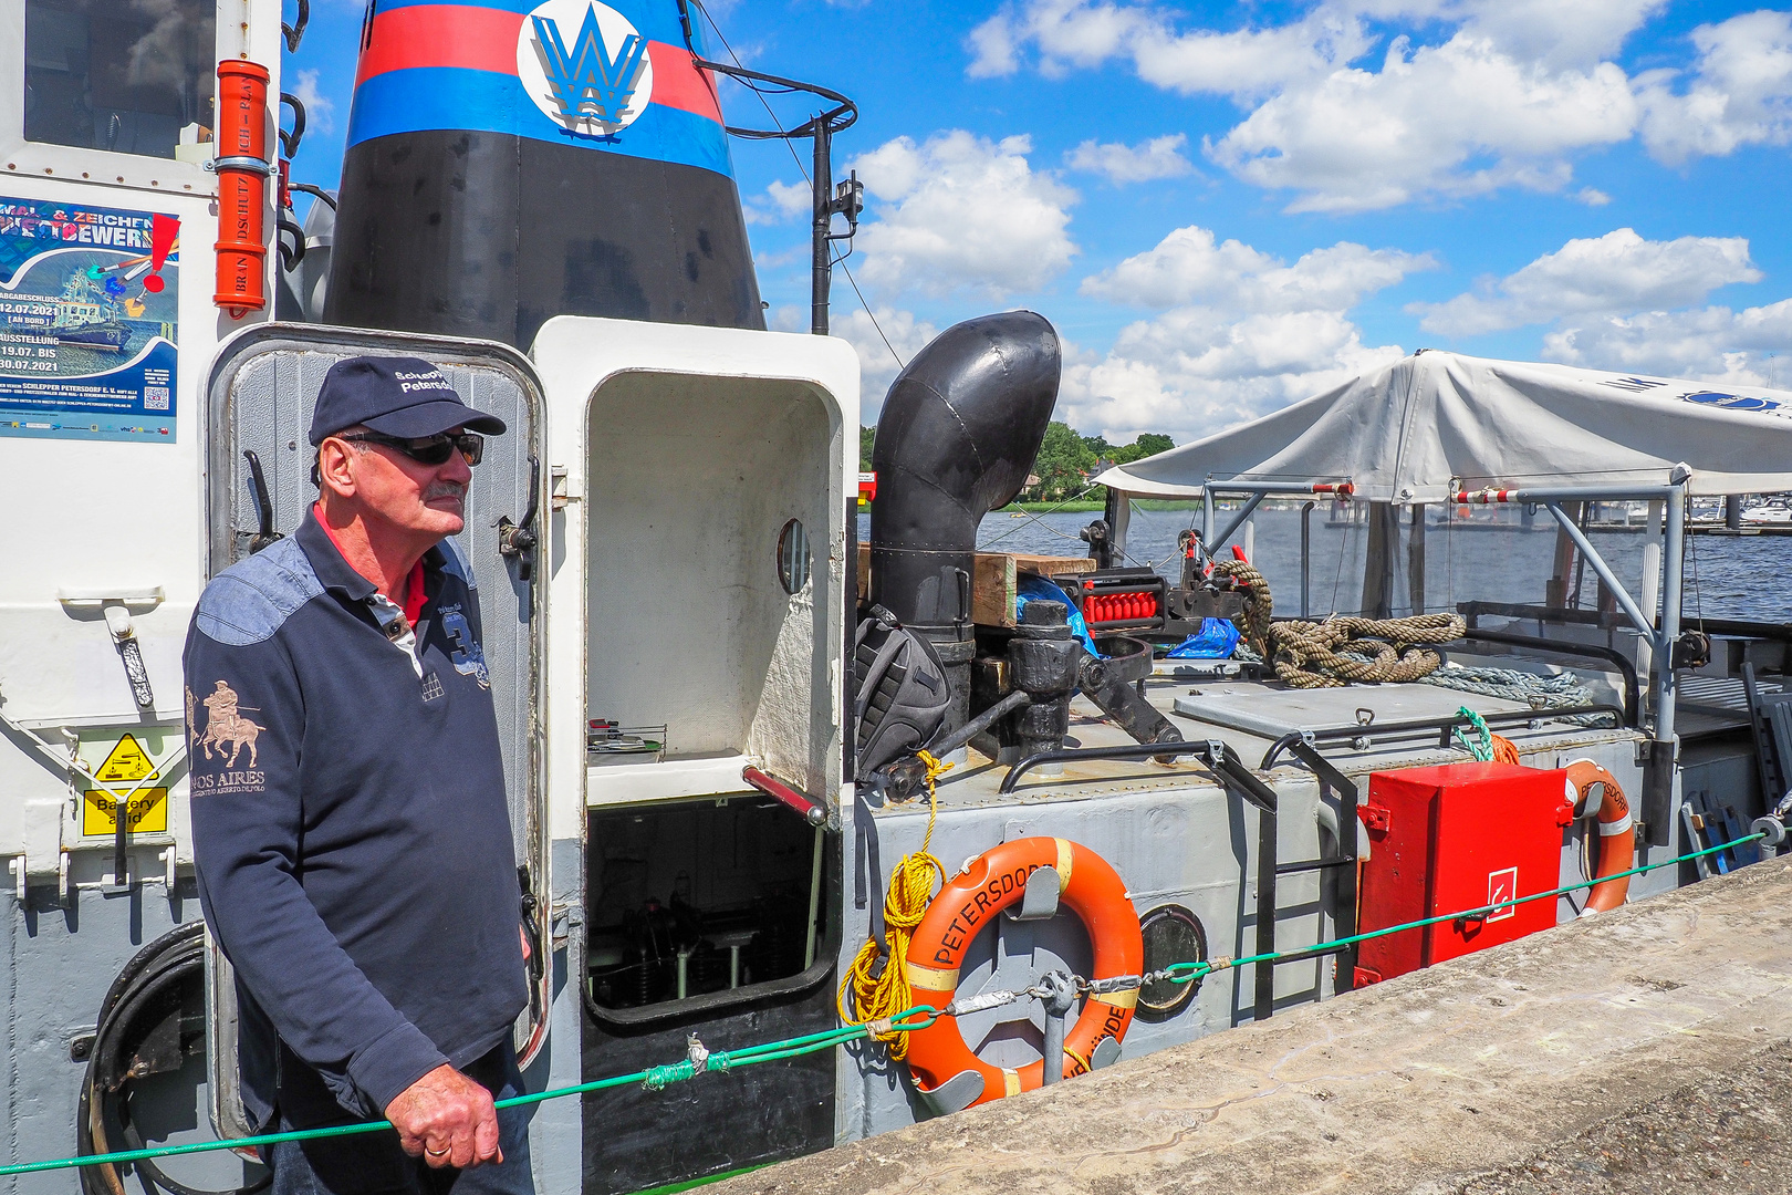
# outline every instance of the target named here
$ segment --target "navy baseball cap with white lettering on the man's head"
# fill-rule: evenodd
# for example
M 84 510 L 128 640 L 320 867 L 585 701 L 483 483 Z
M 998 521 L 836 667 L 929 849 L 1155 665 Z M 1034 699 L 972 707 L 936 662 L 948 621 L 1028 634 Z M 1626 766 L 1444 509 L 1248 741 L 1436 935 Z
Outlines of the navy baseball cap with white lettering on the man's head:
M 330 365 L 312 412 L 312 446 L 357 425 L 400 439 L 450 428 L 504 435 L 504 419 L 468 407 L 443 371 L 418 357 L 348 357 Z

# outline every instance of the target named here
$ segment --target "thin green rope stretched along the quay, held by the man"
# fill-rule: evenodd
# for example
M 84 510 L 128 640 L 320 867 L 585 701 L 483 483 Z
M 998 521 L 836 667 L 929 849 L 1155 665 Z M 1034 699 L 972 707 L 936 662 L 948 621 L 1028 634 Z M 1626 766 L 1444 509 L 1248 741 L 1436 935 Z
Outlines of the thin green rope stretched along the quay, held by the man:
M 1480 727 L 1486 731 L 1486 724 Z M 1333 950 L 1337 946 L 1351 946 L 1355 942 L 1367 942 L 1374 937 L 1387 937 L 1389 933 L 1403 933 L 1407 930 L 1421 930 L 1428 924 L 1439 924 L 1444 921 L 1486 921 L 1489 914 L 1500 912 L 1502 908 L 1512 908 L 1514 905 L 1529 905 L 1530 901 L 1543 901 L 1557 896 L 1566 896 L 1568 892 L 1579 892 L 1581 889 L 1591 889 L 1595 885 L 1606 883 L 1607 880 L 1624 880 L 1627 876 L 1640 876 L 1649 871 L 1658 871 L 1661 867 L 1674 867 L 1676 864 L 1686 864 L 1695 858 L 1704 858 L 1706 855 L 1717 855 L 1719 851 L 1727 851 L 1731 847 L 1744 846 L 1747 842 L 1756 842 L 1763 835 L 1747 835 L 1745 838 L 1736 838 L 1735 842 L 1724 842 L 1722 846 L 1711 846 L 1702 851 L 1692 851 L 1681 855 L 1679 858 L 1668 858 L 1659 864 L 1643 864 L 1641 867 L 1633 867 L 1631 871 L 1620 871 L 1613 876 L 1600 876 L 1598 880 L 1584 880 L 1581 883 L 1570 883 L 1559 889 L 1550 889 L 1548 892 L 1538 892 L 1536 896 L 1520 896 L 1511 901 L 1500 901 L 1498 905 L 1484 905 L 1480 908 L 1469 908 L 1455 914 L 1441 914 L 1437 917 L 1425 917 L 1421 921 L 1407 921 L 1403 924 L 1389 926 L 1385 930 L 1369 930 L 1367 933 L 1353 933 L 1349 937 L 1340 937 L 1333 942 L 1319 942 L 1315 946 L 1299 946 L 1288 951 L 1269 951 L 1263 955 L 1245 955 L 1244 959 L 1204 959 L 1201 962 L 1174 962 L 1163 971 L 1152 973 L 1147 978 L 1167 978 L 1172 984 L 1192 984 L 1213 971 L 1224 971 L 1228 967 L 1242 967 L 1253 962 L 1288 962 L 1297 960 L 1306 955 L 1315 955 L 1324 950 Z M 860 1041 L 871 1037 L 873 1030 L 878 1032 L 900 1032 L 912 1034 L 923 1028 L 930 1028 L 934 1021 L 941 1018 L 941 1010 L 932 1005 L 914 1005 L 903 1012 L 891 1018 L 889 1027 L 882 1025 L 842 1025 L 839 1028 L 823 1030 L 819 1034 L 806 1034 L 803 1037 L 787 1037 L 783 1041 L 767 1041 L 758 1046 L 744 1046 L 740 1050 L 715 1050 L 702 1059 L 702 1068 L 699 1070 L 697 1059 L 685 1059 L 681 1062 L 670 1062 L 667 1066 L 649 1066 L 647 1070 L 634 1071 L 633 1075 L 615 1075 L 611 1079 L 597 1079 L 593 1082 L 575 1084 L 572 1088 L 556 1088 L 552 1091 L 536 1091 L 530 1095 L 518 1095 L 507 1100 L 496 1100 L 496 1107 L 523 1107 L 529 1104 L 541 1104 L 545 1100 L 559 1100 L 570 1095 L 586 1095 L 590 1091 L 609 1091 L 613 1088 L 625 1088 L 629 1084 L 643 1084 L 649 1091 L 663 1091 L 676 1082 L 690 1082 L 699 1073 L 706 1071 L 726 1071 L 740 1066 L 754 1066 L 758 1062 L 780 1062 L 783 1059 L 801 1057 L 805 1053 L 819 1053 L 823 1050 L 831 1050 L 851 1041 Z M 391 1129 L 389 1120 L 369 1120 L 353 1125 L 330 1125 L 326 1129 L 296 1129 L 292 1132 L 263 1132 L 253 1138 L 231 1138 L 226 1141 L 195 1141 L 192 1145 L 159 1145 L 152 1148 L 140 1150 L 116 1150 L 113 1154 L 90 1154 L 86 1157 L 56 1157 L 52 1161 L 27 1161 L 16 1163 L 13 1166 L 0 1166 L 0 1179 L 11 1177 L 14 1174 L 41 1174 L 45 1170 L 75 1170 L 81 1166 L 106 1166 L 106 1165 L 124 1165 L 134 1161 L 149 1161 L 154 1157 L 179 1157 L 183 1154 L 210 1154 L 215 1150 L 235 1150 L 235 1148 L 253 1148 L 262 1145 L 280 1145 L 281 1141 L 319 1141 L 326 1138 L 346 1138 L 360 1132 L 380 1132 Z

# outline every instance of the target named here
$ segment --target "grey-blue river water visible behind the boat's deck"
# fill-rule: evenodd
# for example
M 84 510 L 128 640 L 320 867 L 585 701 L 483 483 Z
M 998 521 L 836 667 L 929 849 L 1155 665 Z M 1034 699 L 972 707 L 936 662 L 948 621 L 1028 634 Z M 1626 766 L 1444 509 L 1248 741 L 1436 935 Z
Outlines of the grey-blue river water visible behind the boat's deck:
M 1344 514 L 1333 521 L 1330 505 L 1321 503 L 1310 518 L 1308 604 L 1312 616 L 1331 611 L 1357 613 L 1362 606 L 1362 568 L 1367 527 Z M 978 527 L 977 546 L 993 552 L 1039 555 L 1086 555 L 1077 532 L 1100 514 L 1055 512 L 1012 518 L 987 516 Z M 1410 525 L 1401 511 L 1400 552 L 1396 552 L 1394 613 L 1412 613 L 1409 573 Z M 1229 514 L 1220 514 L 1220 527 Z M 1269 580 L 1276 615 L 1301 613 L 1301 512 L 1294 507 L 1260 507 L 1254 516 L 1253 563 Z M 1190 525 L 1199 527 L 1199 507 L 1134 509 L 1127 532 L 1129 563 L 1150 564 L 1163 575 L 1181 577 L 1176 537 Z M 871 534 L 867 514 L 858 518 L 858 536 Z M 1242 543 L 1240 530 L 1229 543 Z M 1595 530 L 1593 546 L 1624 580 L 1631 595 L 1641 591 L 1643 545 L 1649 534 L 1638 525 L 1629 530 Z M 1659 539 L 1656 539 L 1659 543 Z M 1555 523 L 1539 512 L 1525 520 L 1520 511 L 1478 509 L 1466 518 L 1455 507 L 1430 507 L 1425 525 L 1425 609 L 1453 609 L 1457 602 L 1541 604 L 1545 582 L 1554 572 Z M 1688 536 L 1686 537 L 1686 618 L 1747 618 L 1756 622 L 1792 622 L 1792 536 Z M 1584 570 L 1581 607 L 1597 604 L 1597 577 Z

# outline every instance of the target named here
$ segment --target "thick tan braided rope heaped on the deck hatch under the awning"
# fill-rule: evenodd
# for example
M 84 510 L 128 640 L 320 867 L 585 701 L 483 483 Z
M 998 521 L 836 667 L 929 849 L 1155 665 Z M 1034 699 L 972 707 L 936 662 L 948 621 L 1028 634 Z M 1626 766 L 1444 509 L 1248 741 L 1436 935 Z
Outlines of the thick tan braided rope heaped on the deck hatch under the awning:
M 1443 658 L 1423 647 L 1460 640 L 1460 615 L 1410 618 L 1328 618 L 1278 622 L 1269 638 L 1276 675 L 1290 688 L 1340 688 L 1351 681 L 1410 683 L 1430 675 Z

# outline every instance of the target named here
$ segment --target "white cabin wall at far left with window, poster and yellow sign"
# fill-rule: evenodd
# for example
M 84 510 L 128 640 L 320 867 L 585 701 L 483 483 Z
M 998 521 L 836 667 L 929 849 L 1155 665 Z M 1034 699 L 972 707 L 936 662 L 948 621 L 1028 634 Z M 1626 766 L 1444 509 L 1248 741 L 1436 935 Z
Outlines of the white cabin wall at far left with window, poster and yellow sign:
M 217 179 L 202 163 L 219 59 L 267 66 L 269 95 L 280 93 L 278 0 L 183 0 L 159 29 L 115 9 L 0 5 L 0 79 L 11 81 L 0 88 L 0 391 L 13 400 L 0 405 L 0 856 L 14 892 L 115 878 L 111 835 L 82 833 L 108 819 L 82 819 L 68 761 L 73 751 L 102 770 L 125 733 L 156 767 L 143 788 L 168 790 L 165 808 L 149 810 L 167 830 L 136 837 L 133 874 L 167 878 L 192 862 L 179 658 L 204 582 L 204 380 L 219 342 L 271 310 L 231 319 L 213 306 Z M 152 34 L 167 43 L 158 70 L 133 75 L 131 52 Z M 131 263 L 151 254 L 156 217 L 179 222 L 177 245 L 159 267 Z M 269 296 L 276 262 L 269 254 Z M 88 267 L 100 276 L 81 278 Z M 151 276 L 159 290 L 145 288 Z M 122 348 L 73 339 L 104 330 L 108 314 L 125 317 Z M 145 353 L 158 337 L 172 351 Z M 109 776 L 143 772 L 127 756 Z

